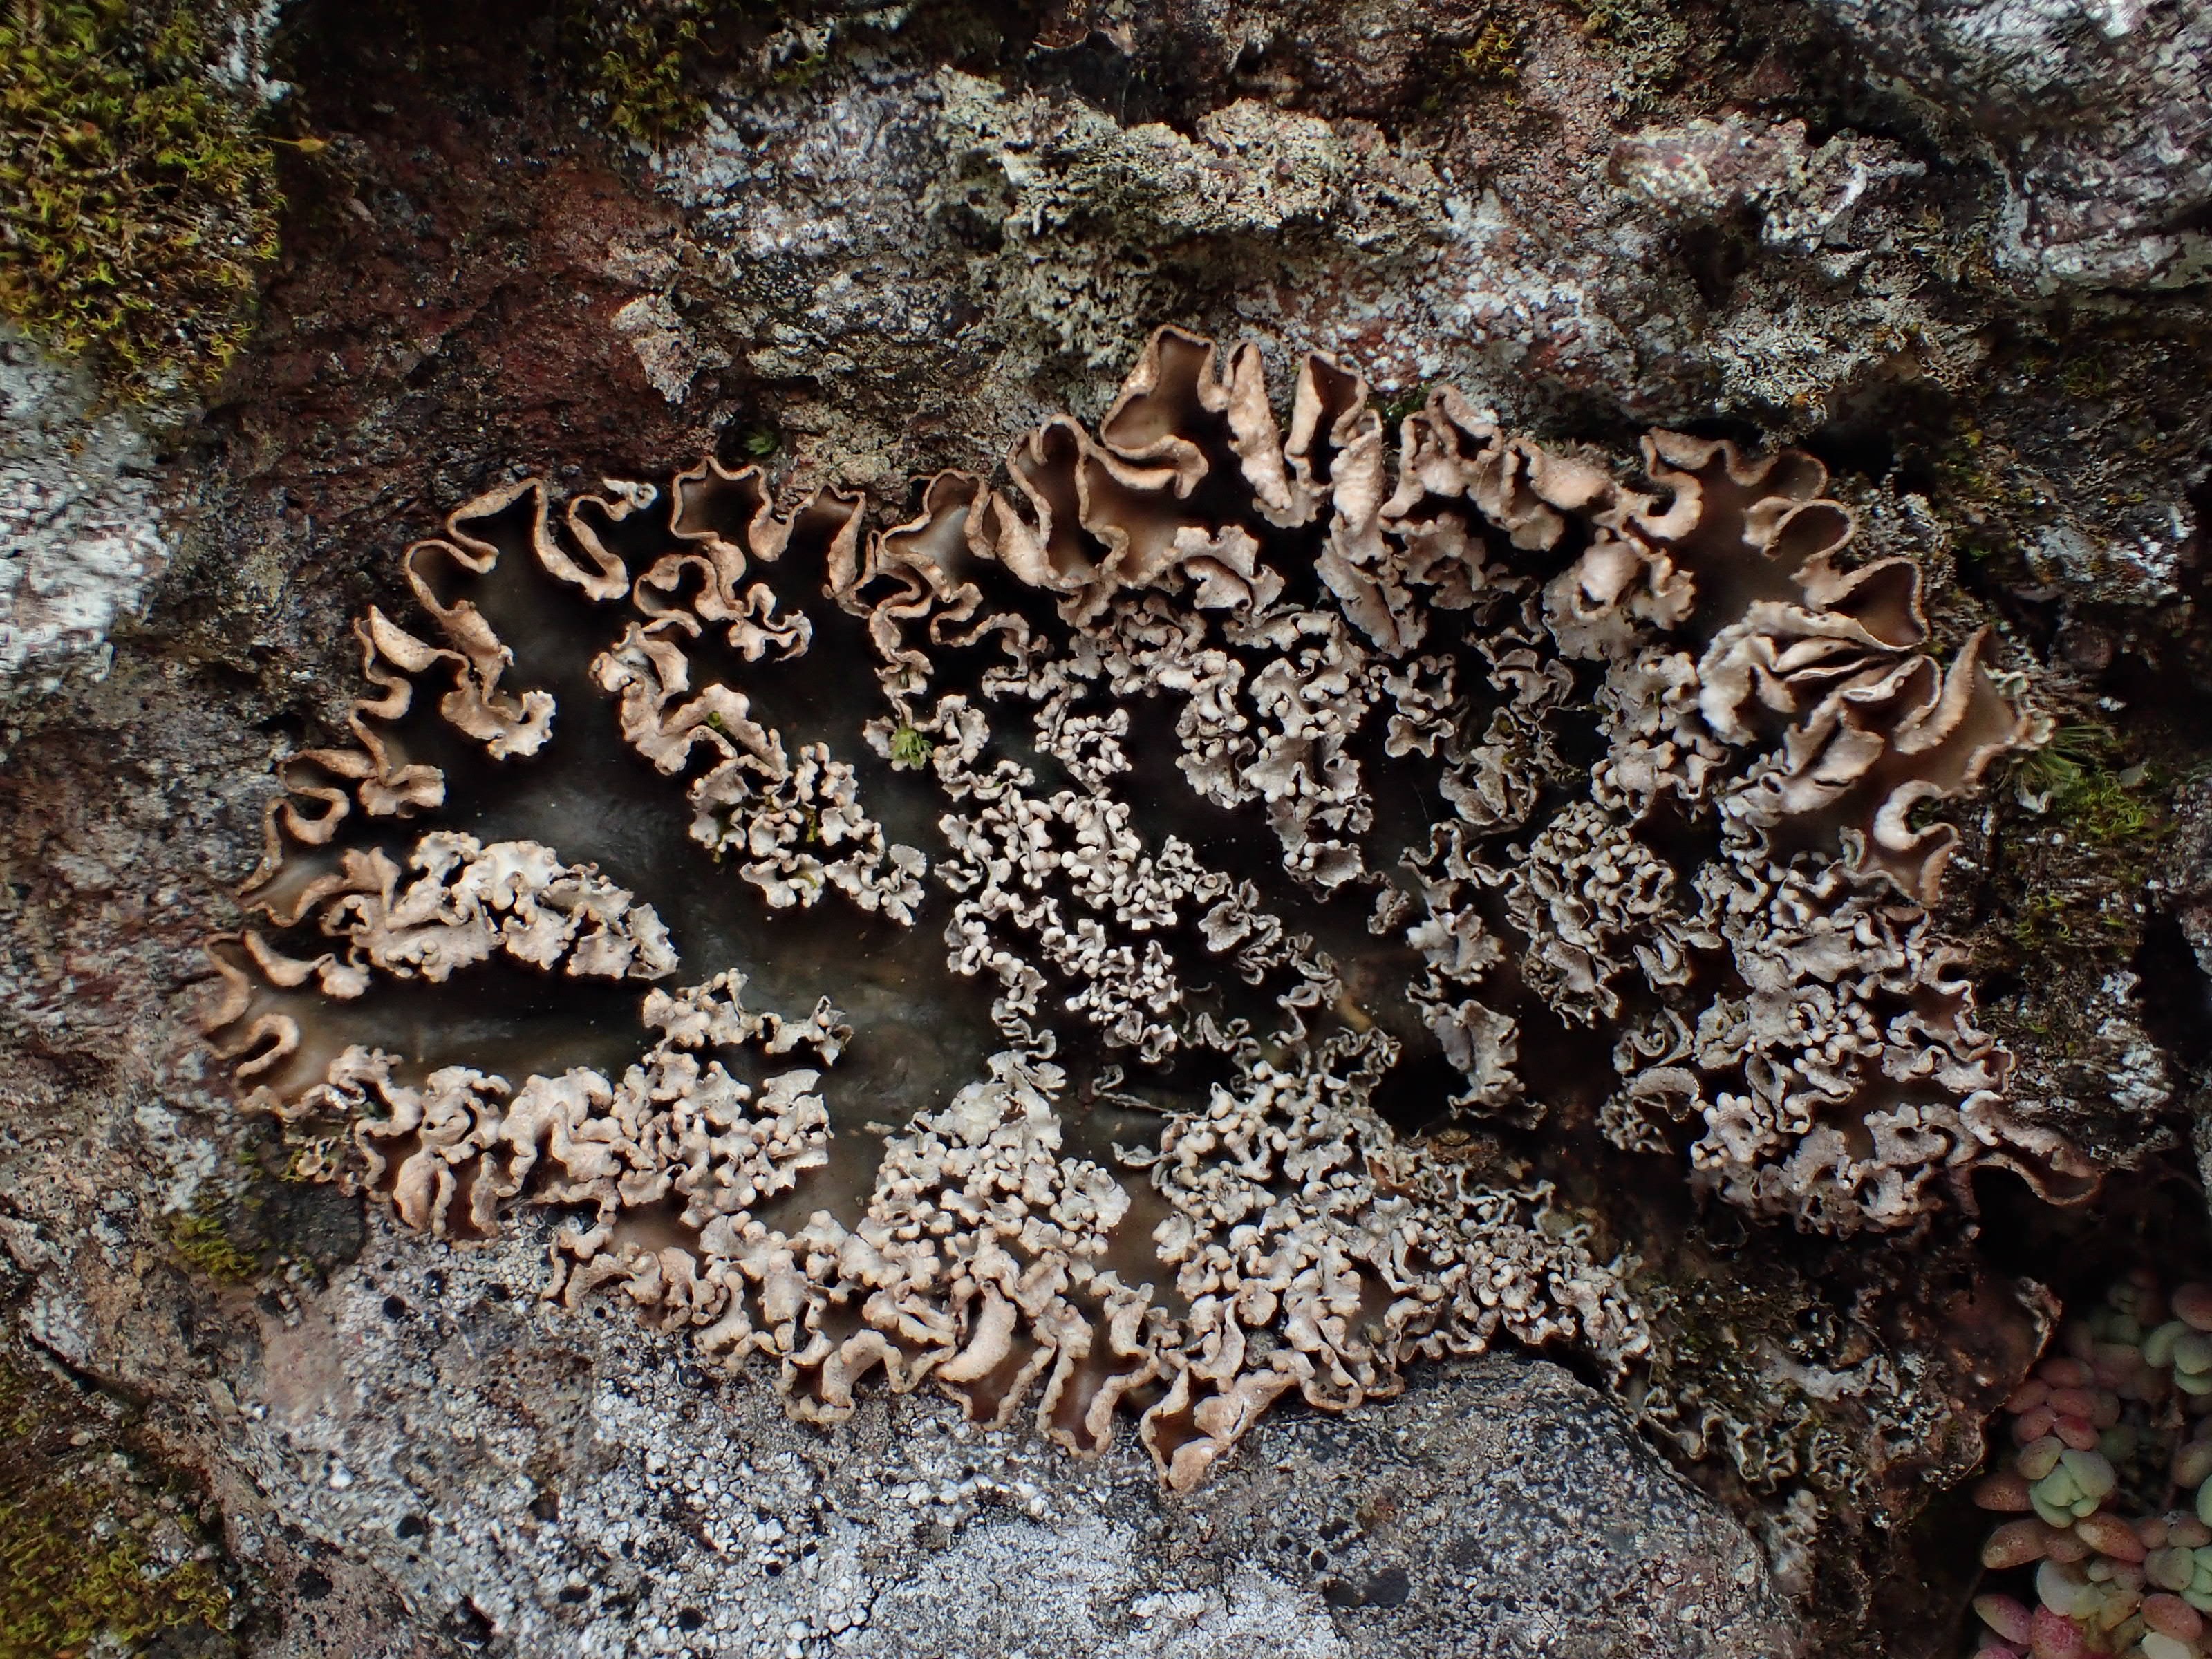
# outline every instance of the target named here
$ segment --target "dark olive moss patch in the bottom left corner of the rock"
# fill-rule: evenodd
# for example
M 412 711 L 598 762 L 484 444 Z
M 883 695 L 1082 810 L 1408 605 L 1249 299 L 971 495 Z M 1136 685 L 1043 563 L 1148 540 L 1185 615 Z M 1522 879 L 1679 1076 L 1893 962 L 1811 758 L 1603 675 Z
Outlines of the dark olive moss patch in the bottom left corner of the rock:
M 177 1478 L 133 1478 L 113 1449 L 80 1447 L 84 1429 L 82 1400 L 0 1360 L 0 1659 L 228 1630 L 230 1586 L 195 1548 L 192 1493 Z

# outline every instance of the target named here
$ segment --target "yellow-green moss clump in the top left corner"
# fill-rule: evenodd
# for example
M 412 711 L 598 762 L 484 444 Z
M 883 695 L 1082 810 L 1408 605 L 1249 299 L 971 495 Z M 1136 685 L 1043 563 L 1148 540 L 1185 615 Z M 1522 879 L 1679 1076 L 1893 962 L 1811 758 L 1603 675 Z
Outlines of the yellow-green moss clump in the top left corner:
M 210 383 L 276 252 L 276 166 L 208 64 L 217 4 L 0 9 L 0 316 L 117 389 Z

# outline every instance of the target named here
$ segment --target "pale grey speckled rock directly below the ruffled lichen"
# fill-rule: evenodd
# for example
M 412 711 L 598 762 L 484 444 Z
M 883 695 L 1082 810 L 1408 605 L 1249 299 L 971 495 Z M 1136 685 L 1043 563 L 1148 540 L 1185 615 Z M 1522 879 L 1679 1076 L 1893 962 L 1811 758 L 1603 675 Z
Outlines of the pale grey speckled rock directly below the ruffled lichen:
M 1133 1447 L 1077 1464 L 925 1400 L 823 1440 L 675 1336 L 507 1298 L 520 1239 L 425 1252 L 372 1225 L 312 1310 L 261 1316 L 234 1374 L 241 1458 L 281 1493 L 250 1548 L 347 1540 L 425 1624 L 473 1608 L 518 1652 L 1801 1650 L 1741 1526 L 1551 1365 L 1276 1411 L 1256 1455 L 1164 1502 Z M 303 1613 L 276 1652 L 343 1639 L 343 1597 Z

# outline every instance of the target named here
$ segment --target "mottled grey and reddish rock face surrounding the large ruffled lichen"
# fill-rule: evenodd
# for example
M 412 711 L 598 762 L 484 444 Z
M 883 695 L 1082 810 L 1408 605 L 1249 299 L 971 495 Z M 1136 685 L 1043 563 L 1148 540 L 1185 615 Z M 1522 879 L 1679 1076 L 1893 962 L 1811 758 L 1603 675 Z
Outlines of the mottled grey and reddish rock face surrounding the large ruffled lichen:
M 11 1420 L 38 1455 L 9 1480 L 97 1464 L 115 1559 L 170 1586 L 113 1628 L 254 1655 L 1960 1646 L 1980 1528 L 1947 1489 L 2053 1303 L 2205 1250 L 2201 4 L 272 20 L 281 131 L 321 148 L 279 155 L 261 327 L 206 407 L 153 425 L 88 407 L 97 365 L 7 367 L 53 392 L 11 392 L 0 436 L 35 491 L 0 500 L 0 1310 L 11 1398 L 58 1402 Z M 984 471 L 1053 409 L 1095 418 L 1159 323 L 1252 336 L 1279 380 L 1354 356 L 1391 420 L 1449 380 L 1593 456 L 1648 425 L 1818 453 L 1867 551 L 1920 564 L 1936 648 L 1995 626 L 2048 717 L 1962 818 L 1940 922 L 2013 1108 L 2101 1197 L 1989 1177 L 1905 1241 L 1805 1239 L 1460 1126 L 1440 1150 L 1555 1181 L 1641 1259 L 1648 1369 L 1608 1400 L 1504 1356 L 1416 1367 L 1398 1402 L 1276 1413 L 1168 1502 L 1119 1451 L 962 1440 L 942 1405 L 796 1429 L 672 1338 L 540 1312 L 542 1239 L 425 1243 L 283 1179 L 199 1042 L 201 940 L 239 922 L 270 761 L 343 730 L 347 619 L 405 611 L 405 542 L 522 476 L 577 493 L 701 451 L 792 491 Z

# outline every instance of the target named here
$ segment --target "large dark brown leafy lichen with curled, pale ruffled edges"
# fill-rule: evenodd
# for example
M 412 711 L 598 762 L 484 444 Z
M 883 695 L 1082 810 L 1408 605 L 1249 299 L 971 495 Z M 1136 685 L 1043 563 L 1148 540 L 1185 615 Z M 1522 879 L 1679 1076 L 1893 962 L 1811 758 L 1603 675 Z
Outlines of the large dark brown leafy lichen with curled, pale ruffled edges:
M 217 1042 L 307 1170 L 546 1206 L 560 1296 L 810 1420 L 1128 1407 L 1179 1486 L 1292 1389 L 1644 1349 L 1546 1186 L 1402 1126 L 1577 1097 L 1827 1232 L 2079 1190 L 1927 914 L 1931 803 L 2022 739 L 1991 641 L 1938 661 L 1805 456 L 1644 471 L 1453 392 L 1391 447 L 1325 358 L 1285 436 L 1166 330 L 894 529 L 717 465 L 484 495 L 283 768 Z

